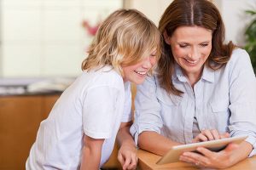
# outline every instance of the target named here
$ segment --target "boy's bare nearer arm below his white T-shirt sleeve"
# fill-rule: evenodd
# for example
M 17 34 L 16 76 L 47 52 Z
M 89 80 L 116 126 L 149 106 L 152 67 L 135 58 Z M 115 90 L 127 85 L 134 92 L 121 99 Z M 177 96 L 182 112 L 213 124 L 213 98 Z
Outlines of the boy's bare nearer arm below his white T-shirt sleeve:
M 98 170 L 102 156 L 104 139 L 92 139 L 84 135 L 84 146 L 80 170 Z

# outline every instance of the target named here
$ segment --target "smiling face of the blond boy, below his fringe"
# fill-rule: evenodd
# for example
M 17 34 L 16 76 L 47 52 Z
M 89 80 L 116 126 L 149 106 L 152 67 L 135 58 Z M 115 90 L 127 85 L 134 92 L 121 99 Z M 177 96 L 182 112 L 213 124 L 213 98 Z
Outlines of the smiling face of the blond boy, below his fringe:
M 136 84 L 141 84 L 147 77 L 148 71 L 155 65 L 156 56 L 155 51 L 145 57 L 142 61 L 135 65 L 124 66 L 124 82 L 134 82 Z

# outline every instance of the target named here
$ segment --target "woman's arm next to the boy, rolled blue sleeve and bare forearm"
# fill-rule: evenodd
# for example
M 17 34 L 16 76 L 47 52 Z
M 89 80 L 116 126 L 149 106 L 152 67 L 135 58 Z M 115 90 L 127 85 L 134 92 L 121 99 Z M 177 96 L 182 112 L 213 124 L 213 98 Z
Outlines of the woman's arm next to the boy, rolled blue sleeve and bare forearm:
M 137 86 L 135 118 L 130 131 L 140 148 L 162 156 L 179 143 L 160 135 L 163 122 L 156 91 L 155 77 L 147 77 L 142 85 Z

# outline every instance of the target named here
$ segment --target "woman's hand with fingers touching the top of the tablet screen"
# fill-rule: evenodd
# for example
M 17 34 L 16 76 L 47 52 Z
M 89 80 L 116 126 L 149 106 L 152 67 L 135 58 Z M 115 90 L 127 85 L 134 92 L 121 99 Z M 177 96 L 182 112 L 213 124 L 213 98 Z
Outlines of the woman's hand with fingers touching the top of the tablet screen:
M 192 139 L 192 143 L 196 142 L 204 142 L 208 140 L 216 140 L 216 139 L 224 139 L 229 138 L 229 133 L 218 133 L 218 130 L 216 129 L 206 129 L 202 130 L 201 133 L 199 133 L 195 139 Z

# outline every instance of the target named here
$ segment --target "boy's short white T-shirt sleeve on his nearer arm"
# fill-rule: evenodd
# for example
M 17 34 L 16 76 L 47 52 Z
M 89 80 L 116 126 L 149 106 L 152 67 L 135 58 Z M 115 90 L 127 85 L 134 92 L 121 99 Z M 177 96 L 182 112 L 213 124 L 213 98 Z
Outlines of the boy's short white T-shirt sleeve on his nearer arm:
M 83 128 L 86 135 L 94 139 L 109 139 L 112 136 L 118 99 L 117 88 L 101 86 L 88 90 L 83 105 Z

